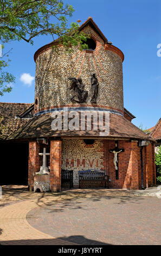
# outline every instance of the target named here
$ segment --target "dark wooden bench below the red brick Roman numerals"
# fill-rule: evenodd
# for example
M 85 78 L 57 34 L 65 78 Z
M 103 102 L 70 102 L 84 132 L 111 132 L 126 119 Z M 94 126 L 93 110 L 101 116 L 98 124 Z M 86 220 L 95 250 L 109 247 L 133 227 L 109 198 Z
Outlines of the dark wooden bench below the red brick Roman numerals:
M 103 170 L 80 170 L 79 188 L 107 187 L 109 177 Z

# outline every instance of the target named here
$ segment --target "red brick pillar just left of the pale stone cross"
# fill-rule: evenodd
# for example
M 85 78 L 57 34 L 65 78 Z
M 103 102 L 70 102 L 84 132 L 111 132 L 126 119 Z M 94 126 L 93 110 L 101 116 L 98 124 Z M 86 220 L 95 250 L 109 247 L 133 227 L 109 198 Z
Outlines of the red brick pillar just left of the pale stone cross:
M 36 141 L 29 142 L 29 167 L 28 167 L 28 186 L 32 191 L 34 188 L 34 174 L 40 170 L 40 144 Z

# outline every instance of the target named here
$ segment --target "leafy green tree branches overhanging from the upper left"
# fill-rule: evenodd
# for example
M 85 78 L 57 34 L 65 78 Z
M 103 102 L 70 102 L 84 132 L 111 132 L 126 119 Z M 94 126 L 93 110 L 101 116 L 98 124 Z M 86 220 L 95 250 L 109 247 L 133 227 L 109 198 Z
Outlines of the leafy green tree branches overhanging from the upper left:
M 53 39 L 59 36 L 66 49 L 78 45 L 81 49 L 87 48 L 83 43 L 86 35 L 78 31 L 79 25 L 73 22 L 68 27 L 67 17 L 71 17 L 73 11 L 72 5 L 65 5 L 62 0 L 0 0 L 0 42 L 24 40 L 33 44 L 36 36 L 50 34 Z M 56 23 L 51 22 L 54 18 Z M 10 92 L 4 83 L 14 82 L 14 77 L 3 71 L 6 66 L 8 62 L 1 60 L 1 95 Z

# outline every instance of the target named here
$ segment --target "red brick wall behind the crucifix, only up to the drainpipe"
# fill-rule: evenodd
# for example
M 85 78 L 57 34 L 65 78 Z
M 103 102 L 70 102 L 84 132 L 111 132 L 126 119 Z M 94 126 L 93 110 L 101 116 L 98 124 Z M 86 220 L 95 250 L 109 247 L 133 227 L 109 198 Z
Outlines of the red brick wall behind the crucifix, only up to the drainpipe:
M 118 147 L 125 149 L 118 154 L 119 179 L 115 179 L 115 168 L 113 153 L 110 150 L 115 148 L 115 141 L 104 141 L 106 148 L 104 166 L 110 176 L 110 187 L 112 188 L 138 188 L 138 170 L 140 170 L 139 148 L 136 142 L 118 141 Z

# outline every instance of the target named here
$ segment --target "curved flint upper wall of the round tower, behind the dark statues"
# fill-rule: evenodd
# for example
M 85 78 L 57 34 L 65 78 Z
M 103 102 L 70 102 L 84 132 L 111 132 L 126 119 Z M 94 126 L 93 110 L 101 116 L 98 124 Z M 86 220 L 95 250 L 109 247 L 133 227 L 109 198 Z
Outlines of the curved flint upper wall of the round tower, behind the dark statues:
M 36 52 L 35 100 L 37 99 L 37 107 L 35 107 L 35 112 L 53 106 L 78 105 L 70 100 L 74 91 L 69 90 L 70 81 L 67 78 L 79 76 L 82 77 L 85 89 L 88 90 L 87 103 L 82 103 L 82 105 L 106 106 L 123 111 L 121 51 L 114 46 L 108 47 L 91 27 L 85 27 L 84 31 L 91 34 L 91 38 L 95 40 L 94 51 L 80 52 L 75 47 L 74 52 L 69 53 L 59 46 L 58 52 L 51 47 Z M 113 51 L 110 50 L 112 47 Z M 90 102 L 93 73 L 99 80 L 97 104 Z

